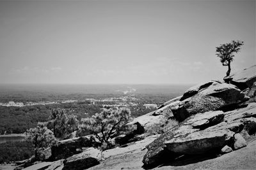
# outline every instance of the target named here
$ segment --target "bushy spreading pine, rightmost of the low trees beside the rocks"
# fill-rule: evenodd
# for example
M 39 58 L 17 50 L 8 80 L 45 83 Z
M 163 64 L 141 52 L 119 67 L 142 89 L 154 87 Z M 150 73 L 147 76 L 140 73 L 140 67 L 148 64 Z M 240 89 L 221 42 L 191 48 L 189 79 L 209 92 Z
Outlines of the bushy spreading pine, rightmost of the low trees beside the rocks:
M 129 120 L 132 120 L 131 111 L 129 109 L 109 109 L 103 110 L 100 113 L 95 113 L 92 118 L 84 119 L 81 128 L 94 134 L 96 138 L 99 139 L 100 143 L 103 146 L 107 145 L 105 147 L 108 148 L 113 134 L 117 135 L 122 131 L 129 129 L 129 127 L 124 126 Z

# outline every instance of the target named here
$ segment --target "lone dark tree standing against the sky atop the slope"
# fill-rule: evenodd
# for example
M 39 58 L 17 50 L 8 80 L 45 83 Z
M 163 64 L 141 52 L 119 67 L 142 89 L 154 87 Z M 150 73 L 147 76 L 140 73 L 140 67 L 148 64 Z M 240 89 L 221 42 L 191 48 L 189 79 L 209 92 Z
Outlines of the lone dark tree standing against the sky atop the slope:
M 230 75 L 231 67 L 230 62 L 234 60 L 234 53 L 241 50 L 240 46 L 244 45 L 243 41 L 232 41 L 231 43 L 222 44 L 216 47 L 216 55 L 220 57 L 220 62 L 223 66 L 228 66 L 227 76 Z

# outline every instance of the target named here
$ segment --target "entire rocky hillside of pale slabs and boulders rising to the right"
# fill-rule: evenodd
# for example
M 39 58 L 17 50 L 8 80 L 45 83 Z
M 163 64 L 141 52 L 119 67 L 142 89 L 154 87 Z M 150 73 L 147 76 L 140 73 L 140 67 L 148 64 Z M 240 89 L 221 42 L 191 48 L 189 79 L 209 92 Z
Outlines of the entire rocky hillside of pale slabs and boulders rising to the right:
M 256 66 L 191 87 L 156 111 L 135 118 L 122 147 L 100 152 L 93 136 L 67 139 L 40 162 L 16 169 L 256 169 Z M 180 124 L 165 126 L 164 122 Z M 145 136 L 152 127 L 163 133 Z M 120 142 L 122 141 L 122 142 Z M 51 157 L 50 157 L 51 156 Z M 45 161 L 45 159 L 47 161 Z

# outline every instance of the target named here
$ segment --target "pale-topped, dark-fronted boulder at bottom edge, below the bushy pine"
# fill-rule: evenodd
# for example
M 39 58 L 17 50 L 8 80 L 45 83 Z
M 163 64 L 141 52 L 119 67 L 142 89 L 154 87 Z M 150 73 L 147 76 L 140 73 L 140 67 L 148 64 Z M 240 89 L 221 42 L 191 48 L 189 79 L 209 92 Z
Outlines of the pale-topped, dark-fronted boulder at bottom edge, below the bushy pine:
M 68 157 L 64 162 L 65 169 L 87 169 L 100 163 L 101 152 L 95 148 L 88 148 L 82 153 Z

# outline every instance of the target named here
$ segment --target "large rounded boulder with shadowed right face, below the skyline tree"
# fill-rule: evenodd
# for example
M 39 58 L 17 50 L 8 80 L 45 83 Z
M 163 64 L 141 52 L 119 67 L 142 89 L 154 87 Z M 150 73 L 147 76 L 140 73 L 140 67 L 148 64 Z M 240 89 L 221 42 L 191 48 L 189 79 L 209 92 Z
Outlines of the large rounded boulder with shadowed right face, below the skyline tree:
M 173 115 L 177 120 L 182 121 L 190 115 L 221 110 L 242 101 L 244 94 L 236 86 L 215 81 L 209 87 L 199 90 L 195 96 L 182 101 L 179 108 L 173 110 Z

